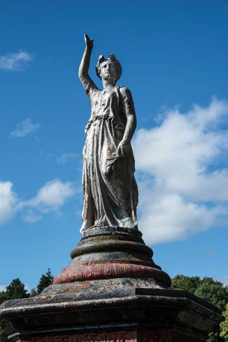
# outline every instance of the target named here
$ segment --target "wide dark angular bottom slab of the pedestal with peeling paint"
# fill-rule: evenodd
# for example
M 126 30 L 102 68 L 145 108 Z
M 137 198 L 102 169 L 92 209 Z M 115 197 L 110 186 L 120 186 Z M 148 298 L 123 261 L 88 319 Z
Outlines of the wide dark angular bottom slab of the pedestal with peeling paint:
M 116 278 L 57 284 L 1 305 L 15 341 L 202 342 L 223 320 L 214 305 L 154 279 Z

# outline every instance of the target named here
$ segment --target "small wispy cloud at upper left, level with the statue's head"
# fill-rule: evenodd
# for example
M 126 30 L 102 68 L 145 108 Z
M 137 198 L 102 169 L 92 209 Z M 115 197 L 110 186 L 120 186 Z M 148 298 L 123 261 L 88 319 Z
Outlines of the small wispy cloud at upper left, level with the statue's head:
M 7 53 L 0 56 L 0 69 L 7 71 L 22 71 L 33 61 L 31 53 L 19 50 L 16 53 Z

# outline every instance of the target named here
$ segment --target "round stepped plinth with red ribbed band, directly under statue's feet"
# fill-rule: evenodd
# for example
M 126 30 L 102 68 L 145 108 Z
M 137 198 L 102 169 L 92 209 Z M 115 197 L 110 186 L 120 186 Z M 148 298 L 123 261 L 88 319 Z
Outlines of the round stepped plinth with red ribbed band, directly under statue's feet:
M 72 261 L 53 284 L 112 278 L 153 278 L 171 285 L 167 273 L 152 260 L 142 233 L 125 227 L 91 227 L 71 252 Z

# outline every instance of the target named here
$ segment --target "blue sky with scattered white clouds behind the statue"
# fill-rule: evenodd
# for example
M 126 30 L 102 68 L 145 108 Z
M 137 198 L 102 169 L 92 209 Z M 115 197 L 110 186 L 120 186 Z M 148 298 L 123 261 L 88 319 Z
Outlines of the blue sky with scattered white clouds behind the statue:
M 84 33 L 133 95 L 138 221 L 169 275 L 228 284 L 228 2 L 2 1 L 0 288 L 35 287 L 80 239 Z

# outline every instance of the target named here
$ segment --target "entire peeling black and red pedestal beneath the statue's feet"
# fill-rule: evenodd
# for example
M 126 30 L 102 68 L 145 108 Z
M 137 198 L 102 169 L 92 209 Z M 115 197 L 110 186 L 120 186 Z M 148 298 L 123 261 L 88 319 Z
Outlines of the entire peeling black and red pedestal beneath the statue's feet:
M 4 330 L 21 342 L 206 341 L 221 311 L 172 290 L 141 236 L 120 227 L 88 229 L 53 285 L 0 306 Z

